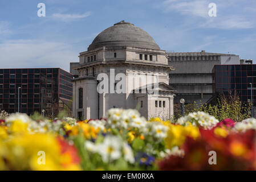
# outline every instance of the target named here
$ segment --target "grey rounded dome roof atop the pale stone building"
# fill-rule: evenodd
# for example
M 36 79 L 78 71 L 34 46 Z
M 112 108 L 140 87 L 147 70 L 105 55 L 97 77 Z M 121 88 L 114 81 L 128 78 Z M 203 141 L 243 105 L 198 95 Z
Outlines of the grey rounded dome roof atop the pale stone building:
M 131 46 L 160 49 L 155 40 L 147 32 L 134 26 L 132 23 L 124 22 L 124 20 L 97 35 L 88 47 L 88 51 L 103 46 Z

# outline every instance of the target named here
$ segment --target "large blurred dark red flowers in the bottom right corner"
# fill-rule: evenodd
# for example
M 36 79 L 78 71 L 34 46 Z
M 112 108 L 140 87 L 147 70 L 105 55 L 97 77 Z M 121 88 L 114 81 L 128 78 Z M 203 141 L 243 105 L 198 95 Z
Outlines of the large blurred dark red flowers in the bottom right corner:
M 168 156 L 158 162 L 161 170 L 248 170 L 256 168 L 255 130 L 218 137 L 214 130 L 200 130 L 201 138 L 187 138 L 184 158 Z M 209 164 L 209 152 L 216 152 L 217 164 Z

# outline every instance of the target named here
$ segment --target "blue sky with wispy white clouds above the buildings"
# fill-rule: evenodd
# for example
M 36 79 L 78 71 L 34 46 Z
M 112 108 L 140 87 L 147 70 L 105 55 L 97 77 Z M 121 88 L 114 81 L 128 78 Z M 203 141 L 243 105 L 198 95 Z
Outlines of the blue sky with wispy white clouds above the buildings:
M 46 16 L 38 16 L 44 3 Z M 216 16 L 210 16 L 216 5 Z M 0 68 L 69 71 L 101 31 L 125 20 L 161 49 L 256 60 L 255 0 L 1 0 Z

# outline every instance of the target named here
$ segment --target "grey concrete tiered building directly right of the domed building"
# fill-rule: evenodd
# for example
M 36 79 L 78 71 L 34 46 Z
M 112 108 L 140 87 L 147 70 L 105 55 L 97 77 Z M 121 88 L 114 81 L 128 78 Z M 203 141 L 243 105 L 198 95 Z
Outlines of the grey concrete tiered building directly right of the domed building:
M 169 84 L 178 90 L 174 103 L 205 104 L 214 97 L 213 68 L 218 64 L 240 64 L 238 55 L 210 52 L 169 52 L 168 61 L 175 71 L 169 73 Z

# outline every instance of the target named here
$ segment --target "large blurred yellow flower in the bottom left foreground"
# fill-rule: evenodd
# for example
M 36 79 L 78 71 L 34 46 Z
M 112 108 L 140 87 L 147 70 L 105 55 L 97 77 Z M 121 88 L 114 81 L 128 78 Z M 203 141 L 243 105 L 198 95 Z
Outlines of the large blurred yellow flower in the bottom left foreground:
M 60 146 L 54 135 L 24 134 L 5 142 L 8 169 L 12 170 L 61 170 Z M 41 152 L 40 152 L 41 151 Z M 42 154 L 43 153 L 43 154 Z M 45 154 L 45 155 L 44 155 Z M 45 157 L 45 164 L 43 158 Z M 42 158 L 42 163 L 38 160 Z

